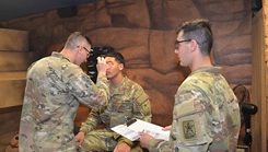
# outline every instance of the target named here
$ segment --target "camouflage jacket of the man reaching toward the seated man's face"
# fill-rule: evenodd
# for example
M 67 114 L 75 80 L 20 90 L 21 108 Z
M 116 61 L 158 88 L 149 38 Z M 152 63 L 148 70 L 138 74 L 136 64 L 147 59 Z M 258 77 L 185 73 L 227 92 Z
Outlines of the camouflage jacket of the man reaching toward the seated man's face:
M 98 90 L 79 66 L 59 52 L 33 63 L 26 79 L 20 152 L 77 151 L 73 120 L 79 102 L 102 108 L 108 86 L 100 83 L 103 90 Z

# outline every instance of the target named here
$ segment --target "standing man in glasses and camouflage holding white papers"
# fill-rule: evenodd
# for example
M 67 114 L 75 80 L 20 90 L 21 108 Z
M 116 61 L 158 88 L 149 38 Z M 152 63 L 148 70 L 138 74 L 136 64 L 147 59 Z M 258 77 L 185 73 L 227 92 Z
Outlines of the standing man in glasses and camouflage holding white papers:
M 175 95 L 170 141 L 140 133 L 140 143 L 152 152 L 235 152 L 241 127 L 236 96 L 213 67 L 213 36 L 209 21 L 196 20 L 177 28 L 175 54 L 190 75 Z

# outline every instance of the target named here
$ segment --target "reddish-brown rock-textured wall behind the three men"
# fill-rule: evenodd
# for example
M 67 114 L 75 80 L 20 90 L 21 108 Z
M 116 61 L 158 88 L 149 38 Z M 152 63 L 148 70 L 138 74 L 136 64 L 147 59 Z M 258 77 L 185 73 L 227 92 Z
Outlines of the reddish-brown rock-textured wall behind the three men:
M 153 122 L 170 125 L 174 94 L 190 73 L 174 55 L 175 28 L 188 20 L 212 23 L 213 63 L 221 66 L 231 86 L 252 85 L 250 1 L 248 0 L 100 0 L 78 5 L 73 17 L 56 10 L 0 22 L 0 26 L 28 31 L 30 50 L 48 56 L 66 38 L 82 31 L 94 46 L 112 46 L 126 58 L 126 74 L 150 96 Z

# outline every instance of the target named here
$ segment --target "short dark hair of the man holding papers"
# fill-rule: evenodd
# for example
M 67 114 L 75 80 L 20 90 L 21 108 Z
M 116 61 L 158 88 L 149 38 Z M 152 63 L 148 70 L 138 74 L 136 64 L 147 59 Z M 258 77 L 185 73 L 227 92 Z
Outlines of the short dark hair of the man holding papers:
M 176 33 L 184 32 L 183 38 L 195 39 L 202 55 L 209 55 L 213 45 L 211 24 L 206 19 L 198 19 L 178 25 Z

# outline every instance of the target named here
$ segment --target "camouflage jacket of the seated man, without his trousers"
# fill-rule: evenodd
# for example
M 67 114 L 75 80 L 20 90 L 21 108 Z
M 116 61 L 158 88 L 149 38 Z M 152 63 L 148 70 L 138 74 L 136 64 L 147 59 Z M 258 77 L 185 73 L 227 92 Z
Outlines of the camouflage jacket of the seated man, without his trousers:
M 143 89 L 125 75 L 123 84 L 109 90 L 109 103 L 103 110 L 92 109 L 85 122 L 82 122 L 80 131 L 86 133 L 92 131 L 98 124 L 104 124 L 108 132 L 112 127 L 126 124 L 132 118 L 151 121 L 151 105 Z M 130 147 L 133 143 L 114 132 L 117 143 L 126 142 Z M 86 139 L 85 139 L 86 140 Z M 107 143 L 108 144 L 108 143 Z

